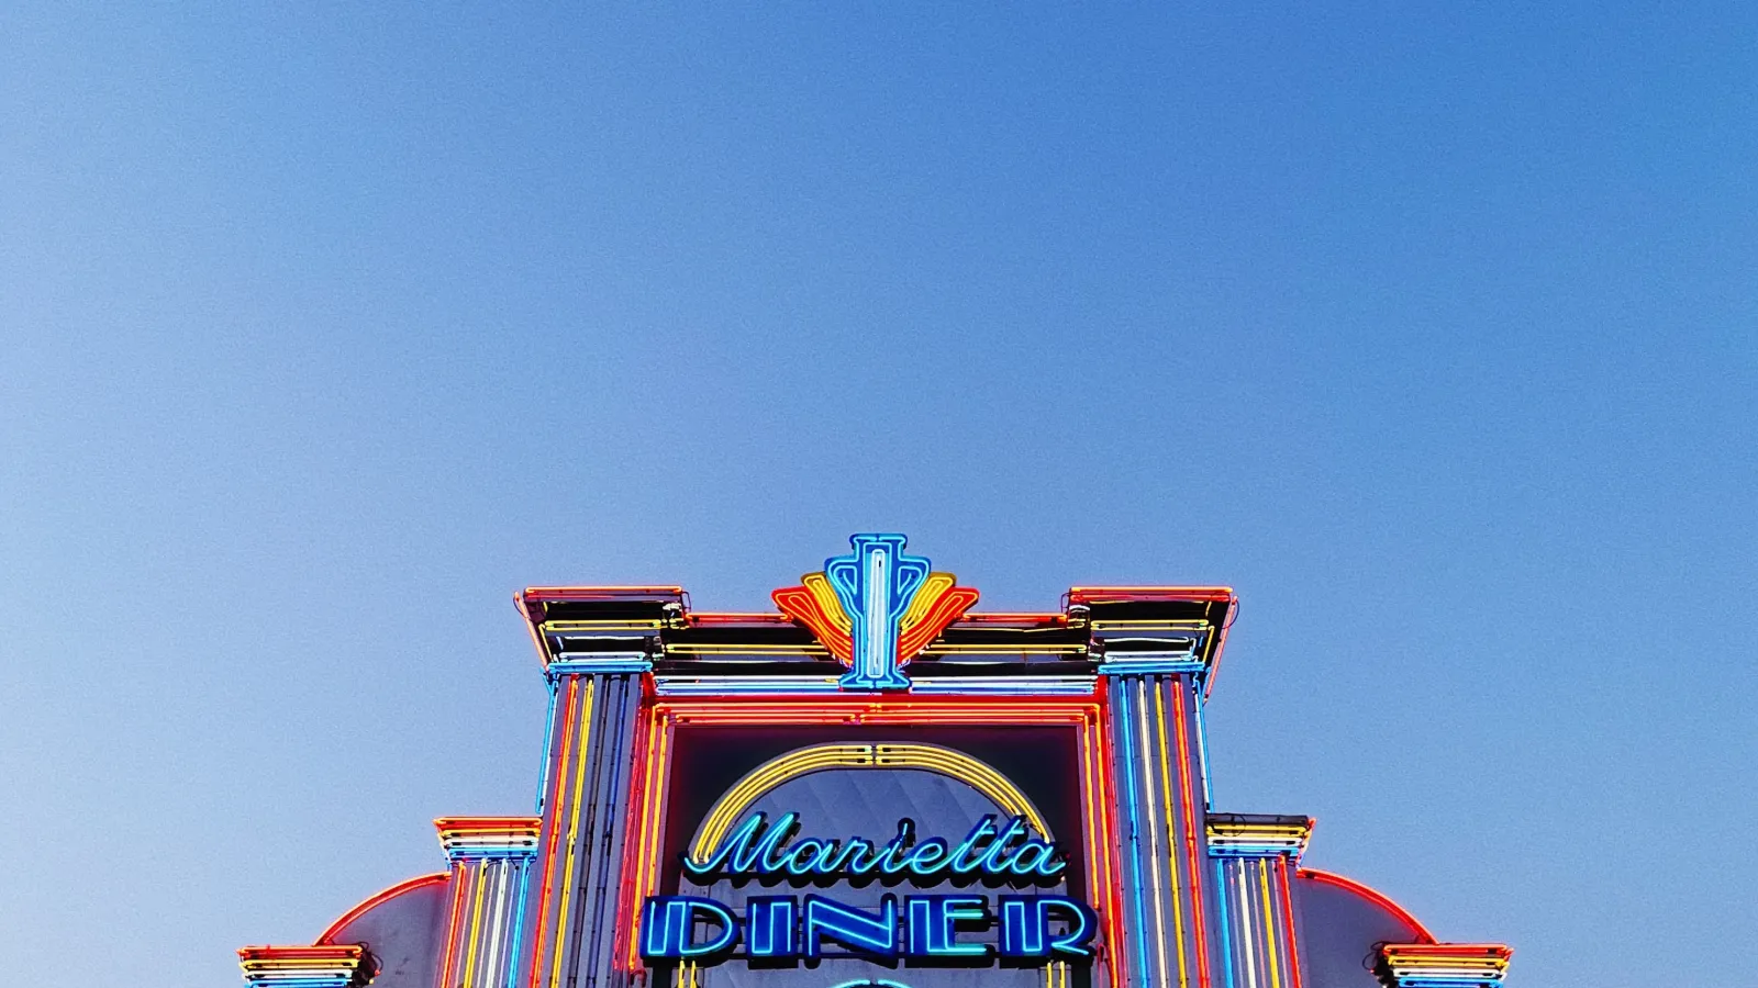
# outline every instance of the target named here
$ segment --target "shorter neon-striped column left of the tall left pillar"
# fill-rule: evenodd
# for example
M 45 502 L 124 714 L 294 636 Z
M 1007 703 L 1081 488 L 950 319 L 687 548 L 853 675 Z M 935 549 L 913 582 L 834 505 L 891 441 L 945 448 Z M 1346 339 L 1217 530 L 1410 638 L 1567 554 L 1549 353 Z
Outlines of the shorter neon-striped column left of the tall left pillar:
M 441 988 L 515 988 L 538 817 L 441 817 L 452 863 Z

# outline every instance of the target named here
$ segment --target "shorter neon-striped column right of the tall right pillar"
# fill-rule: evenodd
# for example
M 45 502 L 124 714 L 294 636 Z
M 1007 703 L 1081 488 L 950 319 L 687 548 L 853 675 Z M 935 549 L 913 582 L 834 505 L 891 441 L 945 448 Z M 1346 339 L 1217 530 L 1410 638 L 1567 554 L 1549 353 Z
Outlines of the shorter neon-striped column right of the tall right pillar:
M 1311 828 L 1304 816 L 1208 817 L 1225 988 L 1303 988 L 1290 877 Z

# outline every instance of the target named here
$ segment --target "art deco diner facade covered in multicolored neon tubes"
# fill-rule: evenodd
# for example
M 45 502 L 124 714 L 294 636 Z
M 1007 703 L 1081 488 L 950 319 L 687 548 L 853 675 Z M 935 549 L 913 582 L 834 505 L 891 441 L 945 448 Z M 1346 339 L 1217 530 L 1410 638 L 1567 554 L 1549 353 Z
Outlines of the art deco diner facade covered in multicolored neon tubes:
M 1442 988 L 1438 942 L 1303 863 L 1311 819 L 1210 800 L 1227 587 L 977 592 L 858 534 L 777 610 L 519 594 L 548 684 L 533 816 L 436 821 L 445 870 L 262 988 Z

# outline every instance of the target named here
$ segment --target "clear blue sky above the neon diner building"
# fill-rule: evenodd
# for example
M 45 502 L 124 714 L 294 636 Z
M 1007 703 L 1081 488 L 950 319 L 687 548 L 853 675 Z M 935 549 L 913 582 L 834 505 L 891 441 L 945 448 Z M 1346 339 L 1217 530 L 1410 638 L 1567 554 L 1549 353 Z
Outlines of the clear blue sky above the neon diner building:
M 1218 809 L 1515 988 L 1749 974 L 1758 7 L 146 7 L 0 12 L 14 963 L 237 984 L 527 812 L 517 587 L 897 529 L 1238 587 Z

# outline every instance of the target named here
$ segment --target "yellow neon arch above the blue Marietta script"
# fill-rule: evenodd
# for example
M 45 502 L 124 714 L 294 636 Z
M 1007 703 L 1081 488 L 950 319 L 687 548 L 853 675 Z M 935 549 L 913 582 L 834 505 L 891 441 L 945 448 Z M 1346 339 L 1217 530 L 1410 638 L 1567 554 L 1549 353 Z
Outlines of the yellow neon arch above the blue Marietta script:
M 689 858 L 693 861 L 707 861 L 721 846 L 721 840 L 726 839 L 726 832 L 733 828 L 733 823 L 744 817 L 751 803 L 758 802 L 763 793 L 802 775 L 830 772 L 833 768 L 919 768 L 923 772 L 935 772 L 983 793 L 1004 812 L 1025 817 L 1039 837 L 1044 840 L 1051 839 L 1050 828 L 1044 825 L 1044 814 L 1037 812 L 1032 798 L 986 761 L 937 744 L 832 742 L 779 754 L 747 772 L 738 782 L 733 782 L 703 817 L 701 830 L 689 847 Z

